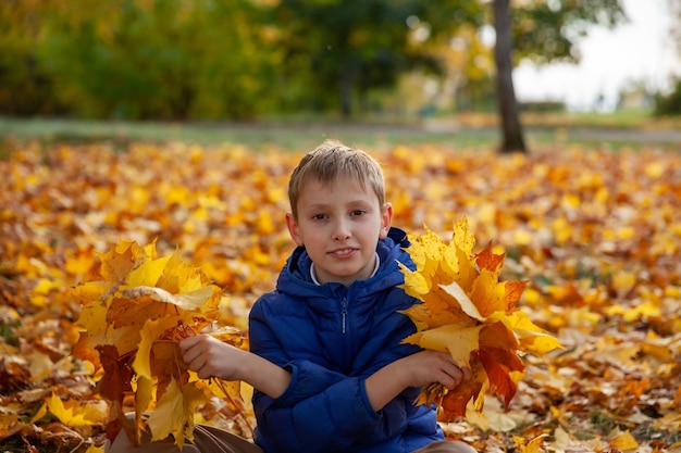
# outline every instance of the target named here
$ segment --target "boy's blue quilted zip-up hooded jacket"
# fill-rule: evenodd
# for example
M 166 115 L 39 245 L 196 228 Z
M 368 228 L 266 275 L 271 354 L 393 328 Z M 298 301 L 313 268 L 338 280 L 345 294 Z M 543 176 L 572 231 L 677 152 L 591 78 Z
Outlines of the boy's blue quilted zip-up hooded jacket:
M 397 288 L 397 262 L 413 268 L 408 246 L 392 228 L 376 247 L 376 274 L 349 288 L 314 285 L 310 257 L 297 248 L 276 289 L 255 303 L 250 350 L 292 373 L 280 398 L 253 394 L 256 443 L 265 453 L 412 452 L 443 439 L 434 407 L 413 404 L 420 389 L 405 390 L 379 413 L 364 389 L 367 377 L 420 350 L 400 343 L 416 331 L 397 313 L 416 302 Z

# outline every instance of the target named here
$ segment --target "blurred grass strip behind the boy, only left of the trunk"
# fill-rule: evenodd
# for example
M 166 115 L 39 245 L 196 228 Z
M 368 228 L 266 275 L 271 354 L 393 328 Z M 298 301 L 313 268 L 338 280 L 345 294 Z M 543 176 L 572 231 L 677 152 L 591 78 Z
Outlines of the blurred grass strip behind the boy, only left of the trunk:
M 111 141 L 125 146 L 135 141 L 183 141 L 201 146 L 239 143 L 252 149 L 271 146 L 309 149 L 335 138 L 347 143 L 377 147 L 439 142 L 451 146 L 494 146 L 495 129 L 432 129 L 421 125 L 360 123 L 162 123 L 96 122 L 49 118 L 0 118 L 0 138 L 37 139 L 46 143 Z

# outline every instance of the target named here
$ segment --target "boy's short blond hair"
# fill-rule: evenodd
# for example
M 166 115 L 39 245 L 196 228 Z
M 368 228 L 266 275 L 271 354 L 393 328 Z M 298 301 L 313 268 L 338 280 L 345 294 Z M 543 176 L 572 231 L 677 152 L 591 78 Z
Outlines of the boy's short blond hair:
M 298 198 L 310 180 L 330 185 L 338 177 L 356 180 L 362 190 L 367 186 L 376 194 L 379 205 L 385 204 L 385 183 L 381 164 L 359 149 L 346 147 L 336 140 L 326 140 L 302 156 L 288 180 L 288 201 L 295 219 L 298 218 Z

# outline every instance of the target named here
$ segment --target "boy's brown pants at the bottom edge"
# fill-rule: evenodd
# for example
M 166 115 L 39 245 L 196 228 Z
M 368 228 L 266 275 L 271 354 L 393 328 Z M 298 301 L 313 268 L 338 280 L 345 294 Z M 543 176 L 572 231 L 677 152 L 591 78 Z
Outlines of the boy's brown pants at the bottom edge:
M 183 450 L 174 444 L 172 438 L 162 442 L 149 442 L 148 436 L 143 437 L 140 446 L 135 448 L 128 442 L 125 432 L 121 431 L 106 453 L 262 453 L 262 449 L 223 429 L 196 425 L 194 443 L 185 444 Z M 444 440 L 413 453 L 475 453 L 475 450 L 463 442 Z

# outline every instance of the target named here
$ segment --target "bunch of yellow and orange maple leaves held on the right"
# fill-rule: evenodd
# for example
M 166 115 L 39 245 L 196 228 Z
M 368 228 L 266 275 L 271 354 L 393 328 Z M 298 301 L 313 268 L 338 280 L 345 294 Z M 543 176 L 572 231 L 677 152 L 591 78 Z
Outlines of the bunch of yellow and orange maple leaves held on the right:
M 521 354 L 562 348 L 516 307 L 528 281 L 499 281 L 505 255 L 493 253 L 490 244 L 473 254 L 475 239 L 466 217 L 455 224 L 448 243 L 430 230 L 409 239 L 416 270 L 400 263 L 404 289 L 423 303 L 404 311 L 417 326 L 404 341 L 448 351 L 457 365 L 472 372 L 470 380 L 451 391 L 442 385 L 424 387 L 417 403 L 437 403 L 447 421 L 465 416 L 471 400 L 482 411 L 487 392 L 508 407 L 523 376 Z

